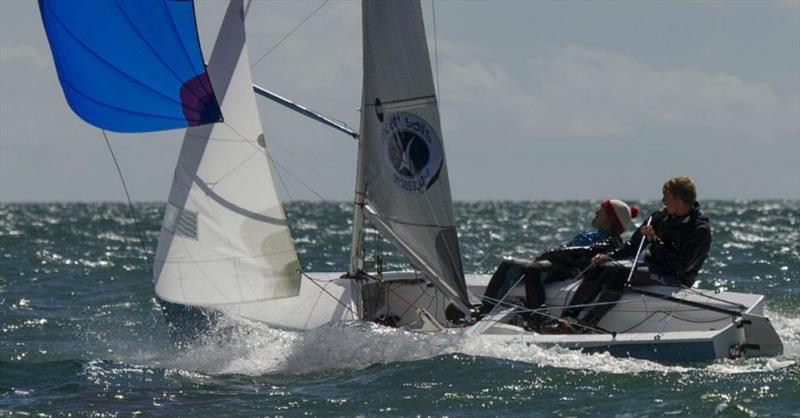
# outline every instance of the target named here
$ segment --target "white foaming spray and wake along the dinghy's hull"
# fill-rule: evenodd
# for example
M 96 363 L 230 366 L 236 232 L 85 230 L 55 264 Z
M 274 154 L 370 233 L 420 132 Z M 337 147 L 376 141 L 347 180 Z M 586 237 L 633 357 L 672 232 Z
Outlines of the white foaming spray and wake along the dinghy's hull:
M 596 373 L 637 374 L 708 372 L 761 373 L 800 360 L 800 317 L 769 312 L 784 344 L 774 358 L 717 360 L 708 364 L 674 365 L 619 358 L 608 353 L 584 353 L 560 347 L 542 348 L 521 338 L 470 337 L 460 332 L 417 333 L 373 323 L 341 322 L 299 332 L 270 328 L 225 317 L 207 336 L 185 349 L 166 344 L 151 355 L 120 359 L 148 367 L 203 374 L 304 375 L 365 369 L 375 364 L 412 362 L 462 353 L 538 366 L 582 369 Z M 143 364 L 144 363 L 144 364 Z

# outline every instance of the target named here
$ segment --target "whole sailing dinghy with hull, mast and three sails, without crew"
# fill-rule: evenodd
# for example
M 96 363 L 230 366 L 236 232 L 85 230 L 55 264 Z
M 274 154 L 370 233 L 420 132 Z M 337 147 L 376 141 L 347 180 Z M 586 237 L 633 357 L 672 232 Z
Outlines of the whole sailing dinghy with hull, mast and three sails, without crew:
M 489 277 L 463 272 L 418 1 L 362 3 L 360 134 L 254 87 L 245 32 L 249 2 L 230 1 L 207 67 L 192 2 L 40 0 L 39 6 L 76 114 L 114 131 L 185 128 L 153 268 L 155 292 L 171 320 L 191 318 L 187 312 L 223 313 L 294 330 L 373 321 L 662 361 L 782 352 L 764 316 L 764 297 L 753 294 L 631 289 L 600 322 L 607 332 L 542 335 L 527 331 L 521 308 L 510 303 L 518 287 L 500 309 L 477 318 L 473 306 Z M 256 93 L 358 138 L 351 263 L 344 274 L 299 268 Z M 414 271 L 367 265 L 367 221 Z M 577 284 L 548 284 L 545 305 L 533 313 L 559 315 Z

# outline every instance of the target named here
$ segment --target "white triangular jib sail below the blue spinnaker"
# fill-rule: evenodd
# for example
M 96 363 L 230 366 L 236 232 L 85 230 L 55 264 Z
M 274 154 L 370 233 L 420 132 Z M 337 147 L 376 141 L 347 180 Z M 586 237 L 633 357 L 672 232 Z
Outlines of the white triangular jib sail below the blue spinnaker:
M 168 302 L 238 304 L 300 288 L 253 94 L 245 14 L 231 1 L 208 64 L 224 122 L 187 129 L 175 169 L 154 272 Z

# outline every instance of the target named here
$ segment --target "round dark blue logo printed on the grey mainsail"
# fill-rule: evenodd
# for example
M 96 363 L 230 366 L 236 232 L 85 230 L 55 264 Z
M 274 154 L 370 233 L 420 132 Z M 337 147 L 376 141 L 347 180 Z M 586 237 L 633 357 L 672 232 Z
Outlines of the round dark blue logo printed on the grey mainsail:
M 424 193 L 442 168 L 442 142 L 425 119 L 408 112 L 383 118 L 381 139 L 392 167 L 394 184 L 411 193 Z

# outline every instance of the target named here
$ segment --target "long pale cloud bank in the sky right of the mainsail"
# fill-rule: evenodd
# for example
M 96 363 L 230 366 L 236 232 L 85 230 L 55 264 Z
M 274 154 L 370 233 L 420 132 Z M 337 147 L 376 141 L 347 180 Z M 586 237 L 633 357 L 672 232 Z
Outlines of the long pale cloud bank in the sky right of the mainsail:
M 552 138 L 632 137 L 649 130 L 774 142 L 800 135 L 800 93 L 692 69 L 656 69 L 578 45 L 553 48 L 522 77 L 485 57 L 448 55 L 445 100 L 456 112 L 492 113 L 517 133 Z

